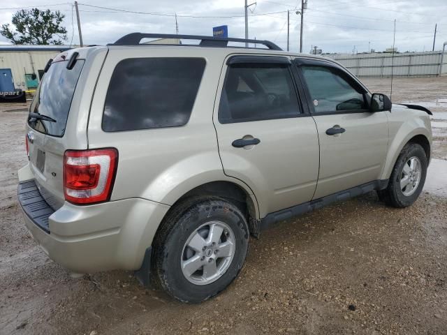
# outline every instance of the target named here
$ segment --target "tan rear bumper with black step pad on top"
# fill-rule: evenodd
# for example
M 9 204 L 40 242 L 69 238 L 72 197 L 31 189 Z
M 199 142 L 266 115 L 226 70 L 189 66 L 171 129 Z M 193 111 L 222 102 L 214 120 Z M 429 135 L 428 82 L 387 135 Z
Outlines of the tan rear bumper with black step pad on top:
M 40 193 L 31 189 L 33 183 L 31 179 L 18 186 L 29 232 L 52 260 L 79 273 L 140 269 L 169 209 L 165 204 L 133 198 L 89 206 L 65 202 L 53 211 L 38 199 Z M 24 190 L 34 193 L 24 196 Z

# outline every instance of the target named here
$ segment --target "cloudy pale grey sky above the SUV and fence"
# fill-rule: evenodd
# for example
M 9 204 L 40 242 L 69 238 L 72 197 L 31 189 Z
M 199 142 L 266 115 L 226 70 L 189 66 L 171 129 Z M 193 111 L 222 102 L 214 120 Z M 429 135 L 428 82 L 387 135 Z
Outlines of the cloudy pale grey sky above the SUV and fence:
M 73 3 L 1 1 L 0 24 L 10 23 L 15 11 L 32 6 L 60 10 L 68 30 L 64 44 L 79 44 Z M 249 7 L 249 38 L 271 40 L 286 50 L 287 10 L 290 10 L 290 50 L 298 52 L 300 15 L 296 12 L 300 8 L 301 1 L 257 0 L 256 6 Z M 212 36 L 212 27 L 227 24 L 230 37 L 244 37 L 244 0 L 80 0 L 79 10 L 82 37 L 87 45 L 113 43 L 135 31 L 175 34 L 175 14 L 179 34 Z M 307 53 L 317 45 L 326 53 L 368 52 L 369 48 L 383 51 L 393 46 L 396 20 L 398 51 L 432 50 L 436 23 L 434 50 L 441 50 L 447 40 L 445 13 L 446 0 L 308 0 L 302 49 Z M 8 40 L 0 36 L 0 44 L 8 44 Z

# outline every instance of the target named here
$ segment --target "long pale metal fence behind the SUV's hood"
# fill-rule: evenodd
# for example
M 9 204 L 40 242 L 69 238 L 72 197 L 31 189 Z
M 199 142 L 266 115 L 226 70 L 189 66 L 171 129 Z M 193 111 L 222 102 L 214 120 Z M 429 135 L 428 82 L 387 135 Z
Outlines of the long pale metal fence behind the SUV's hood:
M 447 56 L 442 52 L 408 52 L 404 54 L 330 54 L 358 77 L 430 76 L 447 74 Z M 441 61 L 443 64 L 441 64 Z

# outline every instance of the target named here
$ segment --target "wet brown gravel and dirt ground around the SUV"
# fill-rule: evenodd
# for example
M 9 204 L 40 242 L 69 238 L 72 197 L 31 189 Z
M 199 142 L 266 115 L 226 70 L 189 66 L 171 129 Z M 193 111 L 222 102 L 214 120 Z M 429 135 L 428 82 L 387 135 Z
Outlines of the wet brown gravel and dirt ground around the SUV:
M 363 81 L 389 93 L 388 79 Z M 227 290 L 195 305 L 130 271 L 72 278 L 47 258 L 16 200 L 26 112 L 3 108 L 0 334 L 447 334 L 447 77 L 393 86 L 393 101 L 434 104 L 439 123 L 419 200 L 393 209 L 370 193 L 279 223 L 251 239 Z

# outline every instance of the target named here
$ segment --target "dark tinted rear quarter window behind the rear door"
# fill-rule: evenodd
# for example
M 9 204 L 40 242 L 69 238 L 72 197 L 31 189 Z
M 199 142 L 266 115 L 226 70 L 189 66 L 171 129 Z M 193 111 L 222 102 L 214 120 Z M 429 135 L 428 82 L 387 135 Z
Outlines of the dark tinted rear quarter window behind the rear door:
M 184 126 L 204 70 L 203 58 L 120 61 L 105 97 L 103 131 Z

